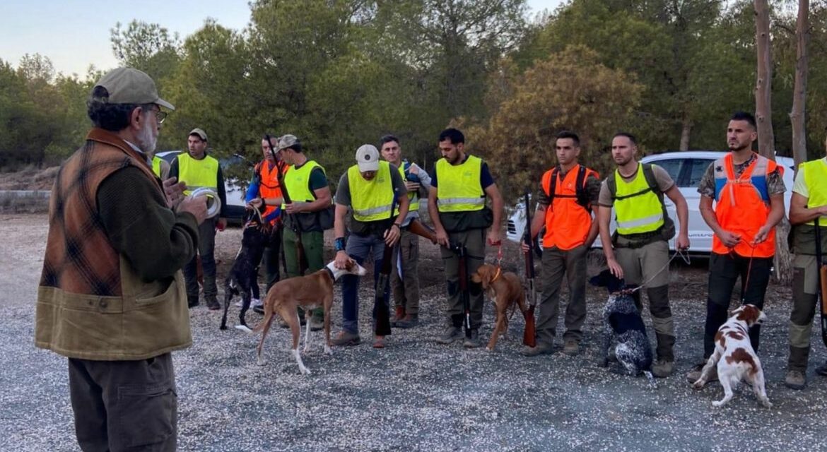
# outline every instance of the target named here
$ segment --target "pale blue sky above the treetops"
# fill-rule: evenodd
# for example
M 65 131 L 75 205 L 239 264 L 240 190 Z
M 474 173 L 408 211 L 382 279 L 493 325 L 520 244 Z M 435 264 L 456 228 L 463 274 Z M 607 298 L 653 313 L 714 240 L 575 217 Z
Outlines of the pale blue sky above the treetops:
M 110 30 L 133 19 L 157 23 L 183 39 L 211 17 L 240 30 L 250 20 L 247 0 L 0 0 L 0 59 L 14 66 L 23 55 L 49 57 L 63 74 L 86 74 L 117 66 Z M 553 10 L 562 0 L 528 0 L 531 14 Z M 104 10 L 105 7 L 105 10 Z

